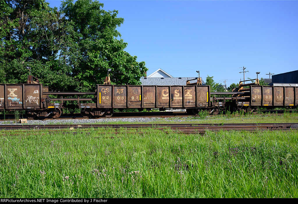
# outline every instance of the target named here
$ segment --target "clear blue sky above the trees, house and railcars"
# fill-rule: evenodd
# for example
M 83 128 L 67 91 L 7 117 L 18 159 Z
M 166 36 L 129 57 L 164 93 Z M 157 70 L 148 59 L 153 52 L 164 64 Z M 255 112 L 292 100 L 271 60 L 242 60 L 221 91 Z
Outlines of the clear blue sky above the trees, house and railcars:
M 60 1 L 48 0 L 51 7 Z M 118 10 L 127 51 L 173 77 L 238 83 L 298 70 L 298 1 L 99 1 Z

